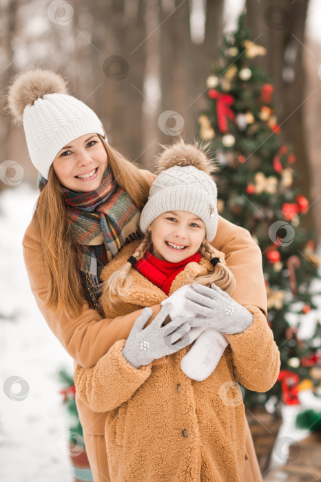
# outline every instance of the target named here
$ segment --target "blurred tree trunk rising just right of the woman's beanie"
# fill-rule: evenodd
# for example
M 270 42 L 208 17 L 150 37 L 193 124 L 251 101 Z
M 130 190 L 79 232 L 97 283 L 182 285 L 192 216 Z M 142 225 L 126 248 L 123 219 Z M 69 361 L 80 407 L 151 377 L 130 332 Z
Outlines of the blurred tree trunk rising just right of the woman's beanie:
M 143 0 L 90 5 L 94 109 L 108 141 L 137 162 L 143 151 L 144 10 Z

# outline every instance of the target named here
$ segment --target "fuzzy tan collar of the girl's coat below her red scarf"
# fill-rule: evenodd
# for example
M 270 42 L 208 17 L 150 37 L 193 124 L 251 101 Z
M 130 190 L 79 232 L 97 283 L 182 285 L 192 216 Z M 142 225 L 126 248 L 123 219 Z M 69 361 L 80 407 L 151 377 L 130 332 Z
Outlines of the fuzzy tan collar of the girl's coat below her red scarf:
M 135 240 L 125 247 L 103 268 L 101 272 L 101 280 L 107 280 L 116 269 L 122 266 L 128 258 L 134 253 L 136 247 L 141 243 L 141 240 Z M 215 249 L 215 255 L 222 259 L 225 263 L 225 255 L 221 251 Z M 180 271 L 173 280 L 169 289 L 169 296 L 178 290 L 181 286 L 190 283 L 196 276 L 207 275 L 214 271 L 214 266 L 204 257 L 200 259 L 199 263 L 189 262 L 183 271 Z M 126 293 L 125 300 L 138 306 L 153 306 L 166 300 L 167 295 L 158 286 L 147 280 L 139 271 L 134 268 L 130 269 L 130 273 L 126 277 L 123 284 L 123 291 Z M 148 300 L 148 304 L 146 301 Z

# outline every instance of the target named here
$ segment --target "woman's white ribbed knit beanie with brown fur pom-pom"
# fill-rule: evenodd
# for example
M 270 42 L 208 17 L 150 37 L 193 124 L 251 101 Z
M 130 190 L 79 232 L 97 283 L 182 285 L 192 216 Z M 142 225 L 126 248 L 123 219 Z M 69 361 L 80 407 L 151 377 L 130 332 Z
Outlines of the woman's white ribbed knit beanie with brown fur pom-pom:
M 68 94 L 65 80 L 51 70 L 17 74 L 8 87 L 7 110 L 13 123 L 23 122 L 32 164 L 48 179 L 59 151 L 85 134 L 101 134 L 103 125 L 94 111 Z

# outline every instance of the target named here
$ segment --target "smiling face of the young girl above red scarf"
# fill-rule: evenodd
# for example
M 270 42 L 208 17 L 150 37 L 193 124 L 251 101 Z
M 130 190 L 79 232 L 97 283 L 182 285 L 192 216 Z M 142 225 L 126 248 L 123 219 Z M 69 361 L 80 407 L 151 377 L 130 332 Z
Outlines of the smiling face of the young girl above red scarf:
M 188 211 L 167 211 L 149 224 L 148 230 L 152 231 L 151 253 L 172 263 L 195 254 L 206 234 L 204 222 Z

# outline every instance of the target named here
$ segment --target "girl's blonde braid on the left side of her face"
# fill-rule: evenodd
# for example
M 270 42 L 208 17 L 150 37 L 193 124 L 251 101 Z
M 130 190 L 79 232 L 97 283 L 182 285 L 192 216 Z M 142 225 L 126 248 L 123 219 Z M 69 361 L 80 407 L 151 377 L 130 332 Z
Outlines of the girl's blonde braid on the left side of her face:
M 141 242 L 141 244 L 139 244 L 139 246 L 136 248 L 136 251 L 134 252 L 134 254 L 132 254 L 132 256 L 129 259 L 135 258 L 136 262 L 138 260 L 141 260 L 141 258 L 143 258 L 143 256 L 145 255 L 147 249 L 149 249 L 151 244 L 152 244 L 152 235 L 151 233 L 149 233 L 149 231 L 147 231 L 145 238 L 143 238 L 143 241 Z M 130 273 L 130 269 L 134 264 L 135 264 L 134 259 L 132 259 L 131 262 L 130 261 L 125 262 L 123 266 L 116 269 L 116 271 L 114 271 L 114 273 L 112 273 L 112 275 L 110 275 L 110 277 L 108 277 L 107 280 L 105 280 L 101 284 L 102 294 L 104 295 L 104 297 L 105 296 L 107 297 L 108 302 L 110 304 L 115 304 L 122 297 L 125 297 L 125 292 L 123 291 L 122 287 Z

